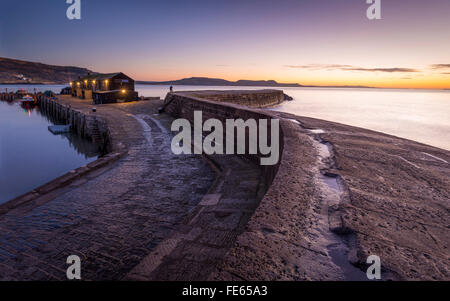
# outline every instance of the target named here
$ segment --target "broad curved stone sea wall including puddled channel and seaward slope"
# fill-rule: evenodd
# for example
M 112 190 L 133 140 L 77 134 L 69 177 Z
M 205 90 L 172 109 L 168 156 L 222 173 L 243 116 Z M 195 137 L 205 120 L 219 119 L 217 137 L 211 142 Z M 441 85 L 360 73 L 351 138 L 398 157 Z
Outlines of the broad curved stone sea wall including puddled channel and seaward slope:
M 267 191 L 208 279 L 364 280 L 373 254 L 384 280 L 448 279 L 448 151 L 228 104 L 224 94 L 169 93 L 165 110 L 191 122 L 196 110 L 220 120 L 279 118 L 280 160 L 259 166 Z

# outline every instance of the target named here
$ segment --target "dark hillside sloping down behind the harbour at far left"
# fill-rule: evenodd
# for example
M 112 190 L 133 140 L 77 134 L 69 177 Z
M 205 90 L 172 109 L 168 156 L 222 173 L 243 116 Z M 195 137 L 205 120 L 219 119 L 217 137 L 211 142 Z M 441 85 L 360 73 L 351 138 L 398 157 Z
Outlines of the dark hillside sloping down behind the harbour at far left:
M 92 71 L 0 57 L 0 84 L 67 84 L 88 72 Z

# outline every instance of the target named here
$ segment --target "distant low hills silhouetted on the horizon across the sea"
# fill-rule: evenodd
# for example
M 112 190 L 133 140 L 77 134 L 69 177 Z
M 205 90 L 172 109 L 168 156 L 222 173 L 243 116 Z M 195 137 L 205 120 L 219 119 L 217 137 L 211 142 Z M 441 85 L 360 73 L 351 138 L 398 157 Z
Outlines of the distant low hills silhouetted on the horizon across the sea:
M 186 85 L 186 86 L 261 86 L 261 87 L 302 87 L 297 83 L 278 83 L 274 80 L 238 80 L 228 81 L 221 78 L 191 77 L 173 81 L 153 82 L 139 81 L 146 85 Z

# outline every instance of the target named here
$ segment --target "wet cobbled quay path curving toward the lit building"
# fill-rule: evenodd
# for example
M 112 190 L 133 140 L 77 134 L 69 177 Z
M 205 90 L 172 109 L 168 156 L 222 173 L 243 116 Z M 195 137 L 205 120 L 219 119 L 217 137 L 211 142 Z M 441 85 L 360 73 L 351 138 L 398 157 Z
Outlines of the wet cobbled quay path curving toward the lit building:
M 0 216 L 0 280 L 65 280 L 72 254 L 83 280 L 121 279 L 202 200 L 214 171 L 200 157 L 173 155 L 171 133 L 135 107 L 100 108 L 120 118 L 112 130 L 127 132 L 128 156 L 43 204 Z

